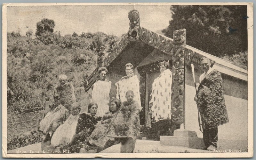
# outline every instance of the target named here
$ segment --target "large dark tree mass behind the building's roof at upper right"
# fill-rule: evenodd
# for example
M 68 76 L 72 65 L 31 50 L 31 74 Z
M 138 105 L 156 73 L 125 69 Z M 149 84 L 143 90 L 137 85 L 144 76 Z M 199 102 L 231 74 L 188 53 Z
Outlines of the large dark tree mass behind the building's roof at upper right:
M 221 57 L 247 50 L 246 6 L 171 6 L 172 20 L 162 30 L 187 30 L 186 44 Z M 235 31 L 236 30 L 236 31 Z

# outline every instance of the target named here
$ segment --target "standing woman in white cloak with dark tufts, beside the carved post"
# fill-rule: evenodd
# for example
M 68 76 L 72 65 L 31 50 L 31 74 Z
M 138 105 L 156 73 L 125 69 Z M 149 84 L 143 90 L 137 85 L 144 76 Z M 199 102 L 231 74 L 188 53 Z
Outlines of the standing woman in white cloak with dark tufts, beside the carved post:
M 172 71 L 169 69 L 168 62 L 160 62 L 159 69 L 161 74 L 157 77 L 152 84 L 151 106 L 148 113 L 148 120 L 146 127 L 159 126 L 161 120 L 171 120 L 171 96 L 172 96 Z M 159 122 L 160 121 L 160 122 Z M 158 122 L 158 123 L 157 123 Z

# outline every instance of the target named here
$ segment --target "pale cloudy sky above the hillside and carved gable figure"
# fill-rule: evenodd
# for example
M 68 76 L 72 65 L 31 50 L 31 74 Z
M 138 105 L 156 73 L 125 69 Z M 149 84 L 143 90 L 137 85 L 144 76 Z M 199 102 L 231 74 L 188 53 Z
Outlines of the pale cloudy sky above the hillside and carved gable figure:
M 166 28 L 172 17 L 170 5 L 8 6 L 7 31 L 26 35 L 31 29 L 35 34 L 36 23 L 49 18 L 62 36 L 97 31 L 121 36 L 129 30 L 128 12 L 133 9 L 140 13 L 140 26 L 151 31 Z

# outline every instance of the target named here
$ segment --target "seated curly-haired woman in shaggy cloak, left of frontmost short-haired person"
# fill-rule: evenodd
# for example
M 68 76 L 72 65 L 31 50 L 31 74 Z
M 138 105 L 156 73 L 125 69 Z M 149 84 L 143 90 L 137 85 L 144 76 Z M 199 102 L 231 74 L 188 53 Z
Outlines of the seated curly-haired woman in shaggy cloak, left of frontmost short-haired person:
M 97 123 L 91 136 L 87 137 L 88 145 L 85 148 L 86 150 L 94 149 L 98 153 L 114 145 L 115 141 L 107 137 L 107 134 L 120 106 L 120 100 L 115 97 L 110 100 L 109 112 L 106 112 L 101 121 Z

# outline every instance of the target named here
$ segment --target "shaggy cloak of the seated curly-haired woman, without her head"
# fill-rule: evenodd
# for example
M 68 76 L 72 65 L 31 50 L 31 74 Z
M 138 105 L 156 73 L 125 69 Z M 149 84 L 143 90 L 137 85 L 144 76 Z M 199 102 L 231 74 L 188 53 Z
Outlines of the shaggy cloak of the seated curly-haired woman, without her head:
M 107 137 L 107 134 L 116 115 L 117 112 L 113 114 L 111 112 L 107 112 L 106 115 L 102 117 L 101 121 L 96 124 L 91 136 L 86 138 L 87 142 L 90 144 L 90 149 L 94 149 L 98 153 L 114 145 L 115 141 Z

